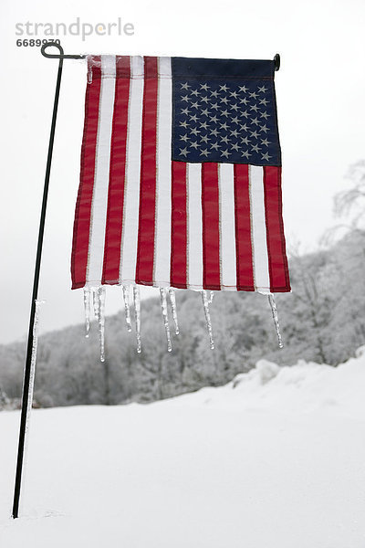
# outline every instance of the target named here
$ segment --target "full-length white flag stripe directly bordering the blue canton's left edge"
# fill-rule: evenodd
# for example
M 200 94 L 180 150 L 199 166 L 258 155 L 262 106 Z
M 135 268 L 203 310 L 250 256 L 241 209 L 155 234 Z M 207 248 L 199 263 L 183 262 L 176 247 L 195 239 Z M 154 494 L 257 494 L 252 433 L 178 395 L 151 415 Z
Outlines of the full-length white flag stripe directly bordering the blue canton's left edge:
M 158 58 L 156 221 L 153 283 L 170 285 L 172 207 L 172 67 L 171 58 Z

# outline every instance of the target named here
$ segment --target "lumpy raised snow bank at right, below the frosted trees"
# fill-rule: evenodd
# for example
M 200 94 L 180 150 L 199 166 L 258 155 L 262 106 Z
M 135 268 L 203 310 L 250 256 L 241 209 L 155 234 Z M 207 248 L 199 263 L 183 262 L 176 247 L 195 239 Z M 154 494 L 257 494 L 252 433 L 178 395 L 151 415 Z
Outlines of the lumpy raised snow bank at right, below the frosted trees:
M 287 413 L 323 412 L 365 419 L 365 346 L 356 358 L 333 367 L 306 363 L 279 367 L 260 360 L 228 385 L 174 398 L 176 405 L 238 406 Z

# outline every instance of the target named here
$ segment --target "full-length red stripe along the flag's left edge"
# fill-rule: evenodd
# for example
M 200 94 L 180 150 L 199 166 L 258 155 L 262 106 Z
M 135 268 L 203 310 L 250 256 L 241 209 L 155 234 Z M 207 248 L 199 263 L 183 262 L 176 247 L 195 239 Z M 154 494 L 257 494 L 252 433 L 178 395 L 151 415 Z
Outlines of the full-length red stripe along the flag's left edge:
M 93 63 L 100 58 L 94 57 Z M 87 85 L 84 134 L 81 145 L 80 184 L 76 203 L 71 255 L 72 289 L 84 287 L 89 254 L 89 232 L 94 189 L 95 153 L 98 137 L 101 68 L 93 66 L 93 79 Z

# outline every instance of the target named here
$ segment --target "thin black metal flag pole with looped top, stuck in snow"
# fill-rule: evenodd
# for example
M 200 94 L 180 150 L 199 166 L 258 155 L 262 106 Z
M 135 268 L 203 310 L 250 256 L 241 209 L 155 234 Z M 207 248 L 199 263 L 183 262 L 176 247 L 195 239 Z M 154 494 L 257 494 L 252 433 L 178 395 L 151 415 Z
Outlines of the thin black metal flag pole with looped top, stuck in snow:
M 59 54 L 47 53 L 46 52 L 47 47 L 57 47 Z M 31 408 L 31 405 L 29 405 L 29 403 L 31 403 L 31 401 L 33 400 L 33 386 L 31 386 L 30 380 L 31 380 L 31 373 L 32 373 L 32 351 L 34 348 L 36 301 L 38 298 L 39 273 L 40 273 L 40 263 L 42 258 L 43 236 L 45 231 L 49 176 L 50 176 L 51 164 L 52 164 L 53 143 L 55 141 L 57 108 L 58 108 L 59 90 L 61 86 L 63 59 L 83 59 L 86 57 L 84 55 L 65 55 L 63 51 L 63 47 L 61 47 L 56 42 L 52 42 L 52 41 L 47 42 L 47 44 L 44 44 L 41 47 L 41 53 L 46 58 L 58 59 L 58 72 L 57 72 L 55 100 L 53 103 L 51 130 L 49 134 L 47 167 L 46 167 L 46 175 L 45 175 L 45 185 L 43 190 L 42 209 L 41 209 L 40 221 L 39 221 L 38 243 L 36 248 L 36 266 L 35 266 L 33 293 L 32 293 L 32 301 L 31 301 L 31 309 L 30 309 L 28 342 L 27 342 L 27 348 L 26 348 L 26 364 L 24 368 L 22 412 L 21 412 L 21 418 L 20 418 L 19 442 L 18 442 L 17 460 L 16 460 L 16 484 L 15 484 L 15 490 L 14 490 L 13 512 L 12 512 L 12 516 L 14 519 L 16 519 L 19 515 L 19 501 L 20 501 L 20 491 L 21 491 L 23 464 L 24 464 L 24 457 L 25 457 L 25 445 L 26 445 L 26 426 L 28 421 L 28 411 Z M 274 66 L 275 66 L 275 70 L 278 70 L 280 68 L 280 56 L 278 53 L 276 53 L 276 56 L 274 58 Z

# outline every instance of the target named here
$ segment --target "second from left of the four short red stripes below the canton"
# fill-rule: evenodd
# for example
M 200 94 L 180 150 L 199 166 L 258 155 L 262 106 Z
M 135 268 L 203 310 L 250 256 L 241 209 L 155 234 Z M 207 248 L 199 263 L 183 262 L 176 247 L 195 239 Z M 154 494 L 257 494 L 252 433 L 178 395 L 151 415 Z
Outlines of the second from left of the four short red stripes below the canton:
M 203 288 L 220 290 L 218 164 L 202 165 Z

